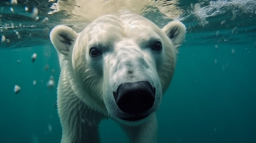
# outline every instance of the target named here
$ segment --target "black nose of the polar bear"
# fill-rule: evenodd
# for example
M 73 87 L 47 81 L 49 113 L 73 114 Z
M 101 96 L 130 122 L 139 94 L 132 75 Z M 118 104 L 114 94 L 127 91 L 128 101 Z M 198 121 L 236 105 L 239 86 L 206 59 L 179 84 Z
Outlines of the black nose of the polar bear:
M 113 95 L 120 110 L 140 114 L 154 105 L 155 88 L 148 81 L 123 83 L 118 86 Z

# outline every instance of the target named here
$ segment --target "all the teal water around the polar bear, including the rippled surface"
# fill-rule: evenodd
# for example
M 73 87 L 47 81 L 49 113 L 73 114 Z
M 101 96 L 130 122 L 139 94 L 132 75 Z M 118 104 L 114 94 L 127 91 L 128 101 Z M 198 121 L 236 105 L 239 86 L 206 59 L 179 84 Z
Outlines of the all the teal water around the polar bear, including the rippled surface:
M 9 9 L 6 2 L 1 1 L 0 7 Z M 191 2 L 181 0 L 180 7 L 191 7 Z M 193 7 L 193 11 L 182 15 L 188 32 L 171 86 L 157 111 L 158 142 L 256 143 L 256 1 L 193 2 L 201 5 L 199 10 Z M 24 4 L 21 2 L 16 9 L 23 9 Z M 227 7 L 220 7 L 225 4 Z M 44 7 L 38 8 L 44 18 Z M 236 18 L 230 20 L 235 10 Z M 15 15 L 4 10 L 1 15 L 1 30 L 5 23 L 20 23 L 27 18 L 25 14 L 5 18 Z M 26 24 L 39 26 L 0 33 L 10 39 L 8 45 L 0 44 L 0 143 L 60 143 L 61 124 L 55 107 L 60 69 L 57 53 L 45 32 L 58 23 L 50 15 L 47 24 L 31 19 L 24 20 L 22 25 Z M 19 31 L 21 39 L 14 38 L 14 30 Z M 37 53 L 34 63 L 33 53 Z M 55 86 L 49 89 L 51 75 Z M 13 92 L 15 85 L 21 87 L 18 94 Z M 102 143 L 128 143 L 121 128 L 110 119 L 101 122 L 100 133 Z

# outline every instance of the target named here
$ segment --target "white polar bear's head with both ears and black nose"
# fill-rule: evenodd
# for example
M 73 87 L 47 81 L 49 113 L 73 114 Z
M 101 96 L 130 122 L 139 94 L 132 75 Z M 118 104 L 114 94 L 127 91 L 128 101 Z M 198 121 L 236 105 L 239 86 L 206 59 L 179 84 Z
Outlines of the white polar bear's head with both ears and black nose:
M 81 33 L 56 26 L 50 38 L 61 70 L 70 70 L 65 76 L 77 81 L 83 94 L 76 95 L 85 104 L 117 121 L 136 122 L 159 107 L 185 33 L 178 21 L 160 29 L 143 16 L 123 13 L 103 15 Z

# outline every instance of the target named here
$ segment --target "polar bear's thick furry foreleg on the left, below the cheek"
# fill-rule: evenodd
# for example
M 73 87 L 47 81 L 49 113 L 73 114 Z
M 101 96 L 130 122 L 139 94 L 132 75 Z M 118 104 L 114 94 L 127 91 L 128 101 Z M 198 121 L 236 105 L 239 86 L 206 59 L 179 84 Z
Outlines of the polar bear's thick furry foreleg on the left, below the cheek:
M 60 82 L 62 83 L 62 82 Z M 65 86 L 59 86 L 65 87 Z M 70 88 L 58 93 L 58 113 L 62 125 L 61 143 L 100 143 L 99 123 L 103 114 L 91 110 Z M 60 90 L 58 89 L 60 92 Z

